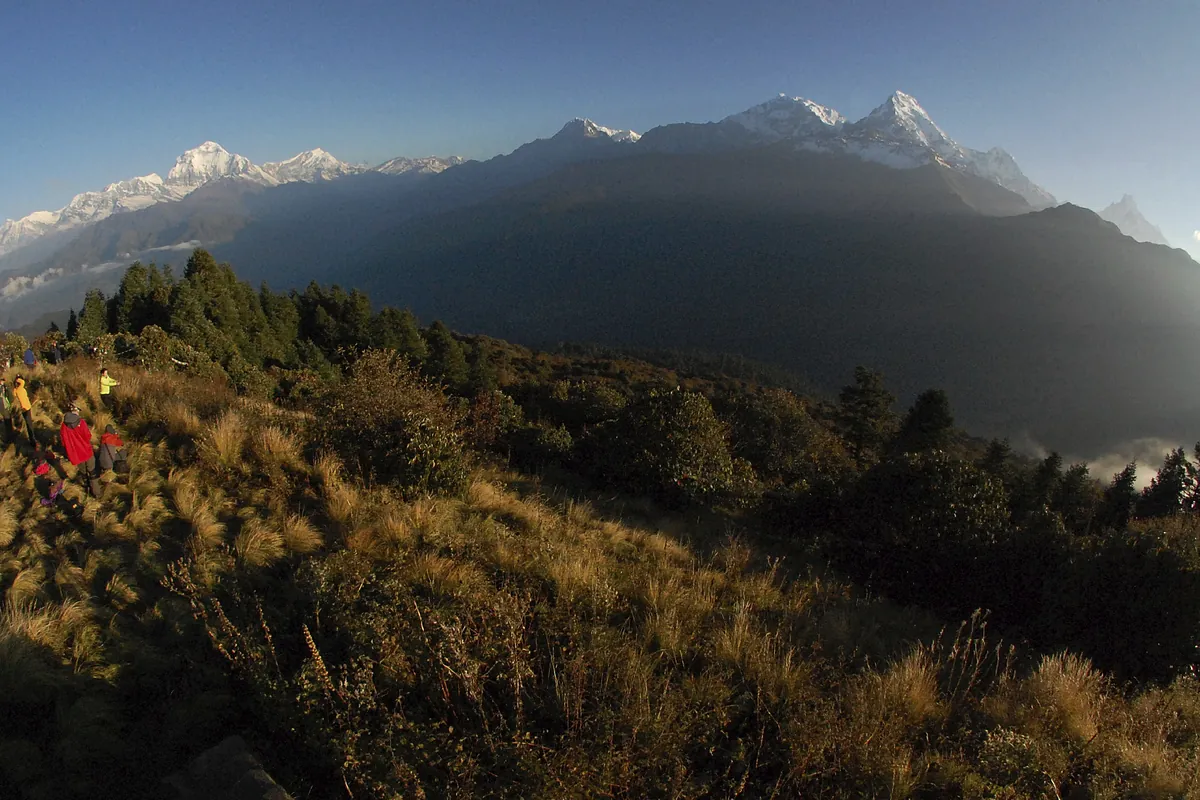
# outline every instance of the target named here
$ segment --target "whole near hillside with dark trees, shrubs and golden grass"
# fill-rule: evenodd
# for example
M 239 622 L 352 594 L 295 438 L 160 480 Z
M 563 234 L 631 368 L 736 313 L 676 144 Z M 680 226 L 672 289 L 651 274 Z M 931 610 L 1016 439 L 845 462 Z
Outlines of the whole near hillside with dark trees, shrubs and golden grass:
M 869 367 L 539 353 L 204 251 L 67 327 L 0 342 L 0 796 L 174 796 L 230 733 L 296 798 L 1200 792 L 1200 445 L 1139 492 Z M 43 464 L 72 404 L 97 497 Z

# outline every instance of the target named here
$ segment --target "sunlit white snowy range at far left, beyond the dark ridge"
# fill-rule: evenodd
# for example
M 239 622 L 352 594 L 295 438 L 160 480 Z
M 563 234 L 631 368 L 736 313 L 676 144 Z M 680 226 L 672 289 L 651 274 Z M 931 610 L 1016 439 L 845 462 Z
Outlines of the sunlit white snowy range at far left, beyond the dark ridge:
M 412 170 L 439 173 L 463 163 L 458 156 L 449 158 L 392 158 L 376 168 L 389 175 Z M 0 257 L 20 249 L 43 236 L 71 231 L 106 219 L 114 213 L 138 211 L 158 203 L 181 200 L 202 186 L 218 180 L 244 180 L 263 186 L 302 181 L 313 184 L 368 172 L 366 167 L 348 164 L 317 148 L 286 161 L 254 164 L 250 158 L 229 152 L 216 142 L 184 152 L 167 173 L 166 180 L 156 173 L 110 184 L 100 192 L 77 194 L 58 211 L 35 211 L 20 219 L 0 224 Z

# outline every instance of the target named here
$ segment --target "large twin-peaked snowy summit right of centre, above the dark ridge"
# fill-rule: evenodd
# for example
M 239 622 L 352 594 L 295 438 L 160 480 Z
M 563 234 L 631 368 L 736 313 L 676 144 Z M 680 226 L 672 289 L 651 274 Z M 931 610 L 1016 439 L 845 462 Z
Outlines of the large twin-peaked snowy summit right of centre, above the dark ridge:
M 1055 204 L 1054 196 L 1026 178 L 1006 151 L 964 148 L 937 126 L 916 97 L 902 91 L 857 122 L 828 106 L 787 95 L 722 120 L 731 122 L 764 143 L 791 140 L 804 150 L 852 155 L 896 169 L 940 163 L 1015 192 L 1033 209 Z

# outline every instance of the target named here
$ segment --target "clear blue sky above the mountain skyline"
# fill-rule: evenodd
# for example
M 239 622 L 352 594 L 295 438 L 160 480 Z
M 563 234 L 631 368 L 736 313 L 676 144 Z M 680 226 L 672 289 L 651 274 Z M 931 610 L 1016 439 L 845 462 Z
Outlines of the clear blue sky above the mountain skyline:
M 50 0 L 0 7 L 0 218 L 256 162 L 487 157 L 572 116 L 644 131 L 778 92 L 858 118 L 895 89 L 1061 200 L 1132 193 L 1200 255 L 1200 4 Z

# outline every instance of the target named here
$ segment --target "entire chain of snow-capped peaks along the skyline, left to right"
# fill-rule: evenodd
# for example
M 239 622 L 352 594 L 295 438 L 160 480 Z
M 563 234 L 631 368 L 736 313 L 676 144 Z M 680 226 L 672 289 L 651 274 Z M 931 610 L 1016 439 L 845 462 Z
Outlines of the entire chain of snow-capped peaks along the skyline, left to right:
M 515 186 L 547 175 L 563 166 L 596 158 L 643 152 L 716 152 L 756 146 L 791 144 L 797 150 L 853 156 L 895 169 L 940 164 L 1001 186 L 1025 200 L 1031 210 L 1056 205 L 1054 196 L 1030 180 L 1004 150 L 980 151 L 952 139 L 920 103 L 902 91 L 894 92 L 860 120 L 851 121 L 838 110 L 804 97 L 779 95 L 764 103 L 732 114 L 715 124 L 674 124 L 647 132 L 610 128 L 576 118 L 547 139 L 497 156 L 485 169 L 493 186 Z M 322 182 L 366 172 L 426 178 L 464 164 L 458 156 L 398 157 L 372 168 L 340 161 L 320 148 L 278 162 L 254 164 L 215 142 L 179 156 L 167 178 L 149 174 L 84 192 L 58 211 L 35 211 L 0 224 L 0 264 L 37 254 L 60 239 L 116 213 L 139 211 L 158 203 L 180 200 L 202 186 L 220 180 L 241 180 L 262 186 Z M 480 164 L 473 164 L 479 167 Z M 457 173 L 456 173 L 457 174 Z M 479 175 L 479 173 L 473 173 Z M 1130 198 L 1105 209 L 1105 218 L 1123 233 L 1142 241 L 1165 239 L 1136 210 Z M 68 234 L 52 236 L 52 234 Z M 38 248 L 29 245 L 41 241 Z M 22 255 L 11 255 L 22 251 Z M 32 263 L 32 258 L 25 259 Z M 4 269 L 0 266 L 0 269 Z

